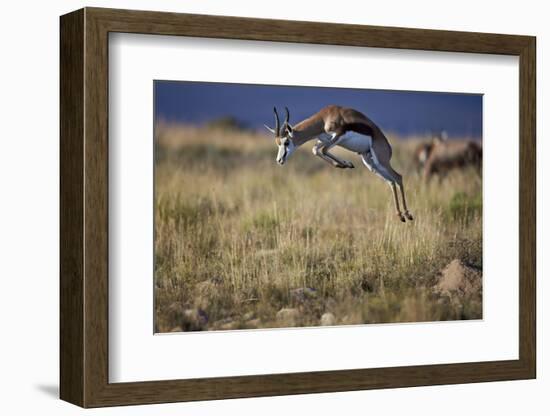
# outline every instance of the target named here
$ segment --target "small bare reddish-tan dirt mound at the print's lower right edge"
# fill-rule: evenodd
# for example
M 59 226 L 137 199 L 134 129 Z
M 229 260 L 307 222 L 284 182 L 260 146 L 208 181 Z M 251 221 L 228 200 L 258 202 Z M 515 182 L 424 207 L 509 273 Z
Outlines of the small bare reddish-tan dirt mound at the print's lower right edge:
M 439 274 L 434 292 L 451 298 L 481 298 L 481 272 L 459 259 L 451 261 Z

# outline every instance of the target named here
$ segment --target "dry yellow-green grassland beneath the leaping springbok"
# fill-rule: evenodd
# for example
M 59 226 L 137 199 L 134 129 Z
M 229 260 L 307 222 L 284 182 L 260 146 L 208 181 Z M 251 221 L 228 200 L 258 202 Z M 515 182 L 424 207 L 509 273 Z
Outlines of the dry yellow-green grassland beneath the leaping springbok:
M 267 135 L 156 128 L 157 332 L 481 317 L 481 299 L 434 292 L 454 259 L 482 269 L 481 179 L 425 184 L 418 139 L 389 136 L 414 222 L 349 153 L 334 169 L 299 149 L 284 167 Z

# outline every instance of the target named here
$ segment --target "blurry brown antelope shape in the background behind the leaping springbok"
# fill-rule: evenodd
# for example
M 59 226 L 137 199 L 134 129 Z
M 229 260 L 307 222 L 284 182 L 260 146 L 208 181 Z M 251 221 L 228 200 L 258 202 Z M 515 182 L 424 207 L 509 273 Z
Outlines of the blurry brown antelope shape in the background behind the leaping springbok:
M 417 157 L 424 159 L 423 176 L 429 180 L 433 175 L 445 176 L 453 169 L 475 167 L 481 172 L 482 149 L 471 140 L 447 140 L 445 136 L 434 136 L 429 145 L 417 149 Z M 422 152 L 425 152 L 424 154 Z

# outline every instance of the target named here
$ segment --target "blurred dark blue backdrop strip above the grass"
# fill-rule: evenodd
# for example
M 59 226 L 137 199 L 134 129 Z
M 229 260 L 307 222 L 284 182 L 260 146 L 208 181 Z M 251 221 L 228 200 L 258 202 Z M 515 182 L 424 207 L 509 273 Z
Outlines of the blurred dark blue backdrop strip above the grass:
M 155 81 L 155 120 L 205 125 L 225 120 L 248 129 L 272 125 L 273 106 L 287 106 L 297 123 L 336 104 L 365 113 L 400 137 L 445 130 L 449 138 L 482 135 L 482 95 Z

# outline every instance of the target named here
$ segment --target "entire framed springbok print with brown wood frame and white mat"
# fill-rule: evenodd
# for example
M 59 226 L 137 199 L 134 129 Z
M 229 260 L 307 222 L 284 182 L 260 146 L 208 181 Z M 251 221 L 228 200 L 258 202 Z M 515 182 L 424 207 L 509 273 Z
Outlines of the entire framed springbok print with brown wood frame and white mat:
M 535 38 L 61 17 L 61 398 L 534 378 Z

